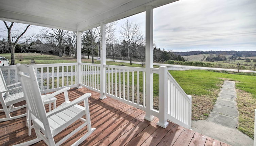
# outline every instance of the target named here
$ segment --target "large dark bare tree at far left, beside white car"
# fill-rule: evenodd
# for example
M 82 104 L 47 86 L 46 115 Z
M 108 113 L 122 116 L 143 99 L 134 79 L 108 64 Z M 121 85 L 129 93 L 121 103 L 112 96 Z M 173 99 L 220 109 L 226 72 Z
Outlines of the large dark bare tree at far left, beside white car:
M 30 41 L 33 36 L 27 37 L 24 36 L 25 32 L 28 30 L 30 25 L 27 25 L 25 28 L 15 28 L 14 22 L 5 22 L 5 27 L 7 29 L 7 41 L 10 45 L 11 50 L 11 65 L 15 65 L 15 47 L 18 43 L 23 44 Z M 13 29 L 14 28 L 14 29 Z M 13 30 L 12 30 L 13 29 Z

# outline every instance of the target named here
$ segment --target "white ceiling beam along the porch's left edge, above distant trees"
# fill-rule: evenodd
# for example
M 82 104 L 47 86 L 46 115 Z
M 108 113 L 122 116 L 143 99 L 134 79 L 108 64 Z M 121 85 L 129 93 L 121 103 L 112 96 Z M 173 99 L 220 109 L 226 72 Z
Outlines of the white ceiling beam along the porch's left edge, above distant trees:
M 60 22 L 56 20 L 30 16 L 20 13 L 15 13 L 11 11 L 0 10 L 0 20 L 31 24 L 37 26 L 44 26 L 48 28 L 62 29 L 68 31 L 76 31 L 76 24 L 70 24 L 65 22 Z

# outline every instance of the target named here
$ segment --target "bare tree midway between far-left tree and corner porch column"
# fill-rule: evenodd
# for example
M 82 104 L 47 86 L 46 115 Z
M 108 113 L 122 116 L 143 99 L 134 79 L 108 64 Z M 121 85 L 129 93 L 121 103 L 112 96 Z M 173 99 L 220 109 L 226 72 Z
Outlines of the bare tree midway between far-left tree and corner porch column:
M 51 38 L 54 44 L 57 46 L 59 57 L 62 57 L 62 50 L 66 45 L 66 35 L 69 31 L 60 30 L 60 29 L 53 29 L 53 28 L 46 28 L 43 29 L 41 32 L 42 38 Z

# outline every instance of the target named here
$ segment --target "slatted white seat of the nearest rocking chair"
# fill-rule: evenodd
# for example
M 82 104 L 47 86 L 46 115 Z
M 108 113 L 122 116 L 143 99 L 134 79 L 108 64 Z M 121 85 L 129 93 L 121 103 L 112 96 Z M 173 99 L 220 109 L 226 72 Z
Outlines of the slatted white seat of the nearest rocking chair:
M 57 109 L 63 107 L 64 105 L 70 103 L 66 101 L 56 107 L 54 110 L 50 111 L 55 112 Z M 58 134 L 60 131 L 67 128 L 70 124 L 74 123 L 76 120 L 79 120 L 85 114 L 85 108 L 80 105 L 74 105 L 64 111 L 58 112 L 50 117 L 48 117 L 50 129 L 53 136 Z M 33 121 L 33 124 L 38 125 L 43 131 L 45 131 L 43 123 L 41 123 L 37 118 Z

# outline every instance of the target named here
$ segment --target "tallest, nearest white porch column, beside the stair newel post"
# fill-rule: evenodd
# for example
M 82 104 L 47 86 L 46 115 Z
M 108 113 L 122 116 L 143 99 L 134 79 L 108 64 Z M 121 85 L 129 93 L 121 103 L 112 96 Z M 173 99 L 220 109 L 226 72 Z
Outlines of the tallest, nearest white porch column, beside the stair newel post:
M 152 121 L 153 109 L 153 7 L 146 7 L 146 116 L 148 121 Z

